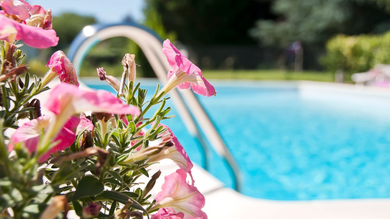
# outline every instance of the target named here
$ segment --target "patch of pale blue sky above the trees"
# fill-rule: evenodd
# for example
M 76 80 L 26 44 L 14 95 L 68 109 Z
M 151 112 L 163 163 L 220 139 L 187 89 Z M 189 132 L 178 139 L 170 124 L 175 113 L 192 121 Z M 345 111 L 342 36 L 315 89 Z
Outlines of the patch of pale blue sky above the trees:
M 53 16 L 63 12 L 92 15 L 101 23 L 115 23 L 130 15 L 135 21 L 144 18 L 144 0 L 29 0 L 31 5 L 51 9 Z M 113 4 L 115 3 L 115 4 Z

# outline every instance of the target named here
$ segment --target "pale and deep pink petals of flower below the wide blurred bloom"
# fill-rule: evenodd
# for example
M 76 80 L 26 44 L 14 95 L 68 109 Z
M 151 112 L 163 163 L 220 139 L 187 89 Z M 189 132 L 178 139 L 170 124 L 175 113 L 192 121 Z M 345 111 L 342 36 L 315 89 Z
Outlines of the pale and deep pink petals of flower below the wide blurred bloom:
M 53 115 L 44 115 L 21 125 L 18 129 L 16 129 L 15 133 L 9 140 L 8 150 L 12 151 L 16 144 L 22 143 L 30 152 L 34 152 L 37 149 L 40 136 L 46 132 L 46 128 L 48 128 L 50 122 L 53 120 Z M 53 140 L 53 142 L 58 141 L 58 144 L 43 154 L 39 158 L 39 162 L 46 161 L 50 157 L 51 153 L 55 153 L 57 150 L 64 150 L 69 147 L 76 138 L 75 131 L 79 122 L 80 118 L 78 117 L 69 118 Z

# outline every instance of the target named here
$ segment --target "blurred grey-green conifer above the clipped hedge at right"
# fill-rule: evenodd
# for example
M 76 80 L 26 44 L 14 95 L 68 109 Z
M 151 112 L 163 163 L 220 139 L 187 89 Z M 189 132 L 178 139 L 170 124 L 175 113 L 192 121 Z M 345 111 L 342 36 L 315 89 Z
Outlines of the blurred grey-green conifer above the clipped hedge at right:
M 275 0 L 277 20 L 259 20 L 250 34 L 264 45 L 285 46 L 301 41 L 320 45 L 334 34 L 378 33 L 389 30 L 389 0 Z

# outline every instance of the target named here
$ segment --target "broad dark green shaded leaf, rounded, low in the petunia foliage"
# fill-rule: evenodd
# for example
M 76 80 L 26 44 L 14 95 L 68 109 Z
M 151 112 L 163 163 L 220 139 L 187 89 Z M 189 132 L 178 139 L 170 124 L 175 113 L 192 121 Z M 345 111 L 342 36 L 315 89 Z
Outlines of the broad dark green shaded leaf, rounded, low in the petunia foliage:
M 73 195 L 73 201 L 87 196 L 94 196 L 103 192 L 103 184 L 92 176 L 85 176 L 80 180 Z

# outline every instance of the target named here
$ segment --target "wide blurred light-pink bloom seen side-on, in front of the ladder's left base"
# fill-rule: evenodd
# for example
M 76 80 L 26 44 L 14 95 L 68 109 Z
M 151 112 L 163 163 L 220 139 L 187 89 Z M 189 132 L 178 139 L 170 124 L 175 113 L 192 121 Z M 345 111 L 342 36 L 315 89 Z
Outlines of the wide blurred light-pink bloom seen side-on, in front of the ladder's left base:
M 78 87 L 60 83 L 51 90 L 46 108 L 59 115 L 73 115 L 93 110 L 96 113 L 140 115 L 140 109 L 124 104 L 105 90 L 79 90 Z

